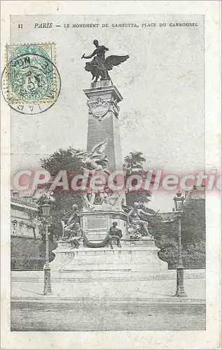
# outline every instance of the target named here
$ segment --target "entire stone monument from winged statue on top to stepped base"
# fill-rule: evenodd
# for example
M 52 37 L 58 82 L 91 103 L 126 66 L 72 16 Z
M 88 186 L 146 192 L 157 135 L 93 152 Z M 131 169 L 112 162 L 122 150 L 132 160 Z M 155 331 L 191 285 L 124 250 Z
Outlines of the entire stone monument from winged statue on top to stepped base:
M 159 249 L 148 232 L 148 223 L 141 217 L 149 214 L 137 202 L 133 208 L 127 207 L 125 194 L 112 190 L 106 181 L 113 172 L 123 169 L 118 126 L 118 104 L 123 97 L 109 71 L 129 56 L 105 58 L 109 49 L 97 40 L 94 44 L 95 51 L 81 57 L 94 57 L 85 64 L 85 70 L 95 80 L 90 89 L 84 90 L 88 98 L 87 151 L 78 156 L 91 176 L 98 176 L 101 186 L 85 193 L 82 211 L 74 206 L 74 214 L 64 225 L 64 235 L 53 251 L 55 260 L 50 268 L 52 277 L 78 281 L 146 279 L 151 273 L 167 269 L 167 263 L 158 258 Z

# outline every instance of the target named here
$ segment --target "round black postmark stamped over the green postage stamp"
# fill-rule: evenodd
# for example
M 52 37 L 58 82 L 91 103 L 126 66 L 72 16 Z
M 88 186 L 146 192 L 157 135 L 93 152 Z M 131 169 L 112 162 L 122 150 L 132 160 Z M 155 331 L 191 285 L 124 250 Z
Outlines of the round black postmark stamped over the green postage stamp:
M 1 76 L 1 90 L 11 109 L 22 114 L 43 113 L 59 97 L 60 73 L 44 55 L 27 52 L 11 56 Z

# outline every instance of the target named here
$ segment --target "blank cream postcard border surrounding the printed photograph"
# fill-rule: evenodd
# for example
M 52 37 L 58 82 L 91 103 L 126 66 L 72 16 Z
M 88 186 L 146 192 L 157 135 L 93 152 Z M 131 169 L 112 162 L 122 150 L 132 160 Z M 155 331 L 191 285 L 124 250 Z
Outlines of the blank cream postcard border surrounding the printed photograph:
M 220 1 L 2 1 L 1 52 L 10 15 L 204 15 L 206 164 L 220 166 Z M 1 59 L 3 62 L 3 59 Z M 3 71 L 4 66 L 1 66 Z M 207 195 L 207 330 L 157 332 L 10 331 L 10 107 L 1 96 L 1 348 L 216 349 L 220 346 L 220 198 Z

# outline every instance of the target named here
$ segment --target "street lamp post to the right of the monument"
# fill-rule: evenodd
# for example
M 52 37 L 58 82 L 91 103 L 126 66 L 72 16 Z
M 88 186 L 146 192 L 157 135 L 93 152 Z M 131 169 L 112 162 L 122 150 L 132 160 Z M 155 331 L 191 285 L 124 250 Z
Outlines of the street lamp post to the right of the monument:
M 182 196 L 181 192 L 176 193 L 174 197 L 176 216 L 178 218 L 178 265 L 176 267 L 176 297 L 187 297 L 184 286 L 183 286 L 183 260 L 182 260 L 182 244 L 181 244 L 181 216 L 183 213 L 183 202 L 185 198 Z

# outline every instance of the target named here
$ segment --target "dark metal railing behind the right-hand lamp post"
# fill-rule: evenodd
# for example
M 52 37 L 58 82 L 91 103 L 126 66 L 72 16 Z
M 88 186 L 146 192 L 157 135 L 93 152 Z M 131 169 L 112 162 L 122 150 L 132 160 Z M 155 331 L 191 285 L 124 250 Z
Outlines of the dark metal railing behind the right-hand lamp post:
M 168 262 L 168 269 L 176 269 L 178 263 L 178 255 L 158 253 L 161 260 Z M 183 255 L 183 267 L 184 269 L 205 269 L 206 268 L 206 255 Z

